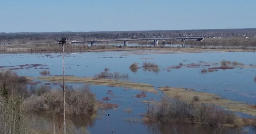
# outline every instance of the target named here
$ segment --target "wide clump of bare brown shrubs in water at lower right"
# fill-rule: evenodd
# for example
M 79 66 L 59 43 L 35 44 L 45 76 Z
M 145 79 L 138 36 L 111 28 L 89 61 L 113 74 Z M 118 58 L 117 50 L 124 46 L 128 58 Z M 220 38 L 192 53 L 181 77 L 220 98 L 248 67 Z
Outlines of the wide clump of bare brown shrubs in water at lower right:
M 197 98 L 197 97 L 196 97 Z M 170 100 L 162 97 L 160 104 L 148 104 L 145 121 L 148 122 L 194 122 L 204 126 L 219 128 L 224 124 L 238 126 L 238 117 L 213 106 Z

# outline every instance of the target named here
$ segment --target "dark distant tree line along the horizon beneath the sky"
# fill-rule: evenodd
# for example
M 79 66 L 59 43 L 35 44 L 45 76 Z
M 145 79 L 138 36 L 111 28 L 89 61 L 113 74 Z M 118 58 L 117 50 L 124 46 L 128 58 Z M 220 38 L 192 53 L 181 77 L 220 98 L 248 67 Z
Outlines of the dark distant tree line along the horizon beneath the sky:
M 159 31 L 105 31 L 105 32 L 52 32 L 0 33 L 0 45 L 54 42 L 61 37 L 68 40 L 163 38 L 163 37 L 254 37 L 256 29 L 159 30 Z

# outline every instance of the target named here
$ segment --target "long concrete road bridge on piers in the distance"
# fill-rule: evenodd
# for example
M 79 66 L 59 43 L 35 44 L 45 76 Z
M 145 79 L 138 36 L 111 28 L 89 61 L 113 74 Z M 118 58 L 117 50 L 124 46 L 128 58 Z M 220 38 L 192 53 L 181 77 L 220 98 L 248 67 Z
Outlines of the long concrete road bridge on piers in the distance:
M 123 45 L 127 46 L 128 41 L 139 41 L 139 40 L 154 40 L 154 46 L 158 45 L 158 40 L 181 40 L 185 42 L 186 40 L 195 40 L 202 41 L 204 38 L 202 37 L 178 37 L 178 38 L 138 38 L 138 39 L 103 39 L 103 40 L 87 40 L 87 41 L 71 41 L 72 44 L 76 43 L 89 43 L 91 42 L 91 46 L 95 45 L 95 42 L 106 42 L 106 41 L 123 41 Z

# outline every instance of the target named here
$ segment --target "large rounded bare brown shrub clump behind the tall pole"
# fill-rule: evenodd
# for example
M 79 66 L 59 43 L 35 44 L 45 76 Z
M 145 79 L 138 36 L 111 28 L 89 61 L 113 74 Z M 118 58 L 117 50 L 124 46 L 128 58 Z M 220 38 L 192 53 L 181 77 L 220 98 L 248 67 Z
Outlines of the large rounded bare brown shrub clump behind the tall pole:
M 27 111 L 62 113 L 62 90 L 43 90 L 43 92 L 41 90 L 36 90 L 36 94 L 26 99 Z M 95 102 L 95 96 L 91 93 L 89 86 L 84 86 L 82 89 L 66 88 L 66 114 L 86 115 L 94 112 Z

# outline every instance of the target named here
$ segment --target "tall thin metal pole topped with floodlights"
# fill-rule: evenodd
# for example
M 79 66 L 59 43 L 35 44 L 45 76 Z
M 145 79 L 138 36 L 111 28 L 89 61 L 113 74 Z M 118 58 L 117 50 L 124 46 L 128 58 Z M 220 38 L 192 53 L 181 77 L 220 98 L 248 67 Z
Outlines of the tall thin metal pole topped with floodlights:
M 59 40 L 58 40 L 59 41 Z M 63 103 L 64 103 L 64 134 L 66 134 L 66 114 L 65 114 L 65 81 L 64 81 L 64 44 L 66 43 L 67 38 L 62 38 L 58 44 L 62 44 L 62 67 L 63 67 Z

